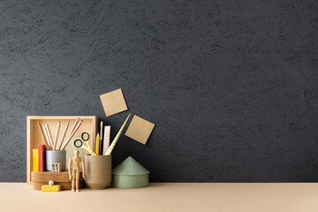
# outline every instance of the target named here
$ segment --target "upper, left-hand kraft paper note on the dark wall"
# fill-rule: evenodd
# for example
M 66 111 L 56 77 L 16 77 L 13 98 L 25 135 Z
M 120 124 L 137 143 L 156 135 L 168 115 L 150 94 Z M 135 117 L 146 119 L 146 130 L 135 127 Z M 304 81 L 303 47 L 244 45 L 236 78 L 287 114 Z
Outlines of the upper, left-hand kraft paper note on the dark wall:
M 104 95 L 100 95 L 100 98 L 106 117 L 110 117 L 111 115 L 127 110 L 127 105 L 121 88 Z

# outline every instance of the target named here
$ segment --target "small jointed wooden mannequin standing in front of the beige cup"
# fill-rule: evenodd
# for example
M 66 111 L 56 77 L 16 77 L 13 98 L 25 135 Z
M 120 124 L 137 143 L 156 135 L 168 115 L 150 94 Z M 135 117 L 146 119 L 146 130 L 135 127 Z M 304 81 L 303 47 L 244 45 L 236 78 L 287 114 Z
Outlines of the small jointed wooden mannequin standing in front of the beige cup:
M 72 192 L 75 192 L 74 186 L 76 181 L 76 192 L 79 192 L 79 172 L 82 171 L 83 178 L 85 179 L 85 160 L 79 157 L 79 150 L 74 151 L 74 155 L 69 160 L 69 176 L 70 180 L 72 180 Z M 81 169 L 79 167 L 79 163 L 81 163 Z

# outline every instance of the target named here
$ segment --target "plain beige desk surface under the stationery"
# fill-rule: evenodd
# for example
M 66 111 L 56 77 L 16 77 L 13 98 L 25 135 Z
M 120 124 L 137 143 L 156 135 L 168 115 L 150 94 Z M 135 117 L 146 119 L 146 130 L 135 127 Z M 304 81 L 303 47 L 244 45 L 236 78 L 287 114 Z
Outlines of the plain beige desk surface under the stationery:
M 158 183 L 147 188 L 42 193 L 0 183 L 0 211 L 318 211 L 318 184 Z

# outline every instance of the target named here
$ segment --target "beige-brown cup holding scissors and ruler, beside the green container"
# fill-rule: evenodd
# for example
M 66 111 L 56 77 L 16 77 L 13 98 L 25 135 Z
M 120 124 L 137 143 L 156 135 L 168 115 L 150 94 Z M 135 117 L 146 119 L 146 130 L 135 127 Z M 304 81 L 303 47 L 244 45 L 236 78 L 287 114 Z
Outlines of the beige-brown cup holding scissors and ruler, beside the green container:
M 85 182 L 91 189 L 110 186 L 111 155 L 85 155 Z

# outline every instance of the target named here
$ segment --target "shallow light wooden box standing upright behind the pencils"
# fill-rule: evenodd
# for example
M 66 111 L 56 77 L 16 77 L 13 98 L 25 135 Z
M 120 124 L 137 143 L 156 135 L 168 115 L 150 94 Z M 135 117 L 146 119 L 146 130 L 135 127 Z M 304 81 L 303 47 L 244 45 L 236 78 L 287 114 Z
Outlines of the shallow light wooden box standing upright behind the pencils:
M 70 122 L 70 125 L 73 125 L 75 120 L 79 117 L 80 120 L 83 120 L 82 125 L 80 125 L 79 130 L 77 133 L 74 134 L 73 138 L 79 138 L 80 134 L 83 131 L 87 131 L 90 133 L 90 140 L 89 145 L 91 147 L 94 147 L 93 144 L 95 144 L 96 139 L 96 133 L 97 133 L 97 122 L 98 117 L 95 116 L 28 116 L 27 117 L 27 184 L 32 184 L 32 178 L 31 178 L 31 172 L 34 170 L 33 168 L 33 149 L 38 148 L 39 145 L 42 145 L 44 143 L 42 138 L 42 133 L 39 130 L 38 127 L 38 121 L 41 123 L 41 125 L 45 125 L 45 122 L 48 123 L 49 129 L 52 132 L 57 131 L 57 123 L 58 121 L 61 122 L 61 127 L 64 127 L 68 122 Z M 71 131 L 71 127 L 69 127 L 66 136 Z M 57 140 L 57 143 L 60 143 L 60 140 L 62 139 L 62 135 Z M 72 147 L 72 140 L 65 148 L 66 150 L 66 161 L 68 161 L 69 157 L 72 157 L 74 155 L 75 148 Z M 94 150 L 94 149 L 93 149 Z M 86 153 L 86 150 L 83 149 L 83 153 Z M 79 155 L 79 156 L 85 156 L 85 155 Z

